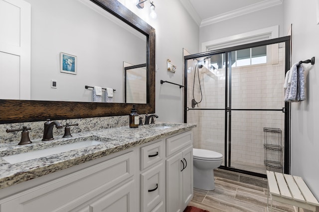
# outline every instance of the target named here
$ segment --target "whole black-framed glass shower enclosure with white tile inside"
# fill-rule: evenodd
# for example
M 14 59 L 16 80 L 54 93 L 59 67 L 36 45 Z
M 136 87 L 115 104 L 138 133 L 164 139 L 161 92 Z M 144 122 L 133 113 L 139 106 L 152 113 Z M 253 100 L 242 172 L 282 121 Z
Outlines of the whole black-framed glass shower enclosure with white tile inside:
M 260 177 L 273 169 L 290 173 L 283 88 L 290 36 L 185 56 L 184 65 L 184 122 L 197 124 L 194 147 L 222 153 L 223 169 Z M 267 160 L 264 128 L 282 133 L 282 151 L 268 149 Z M 273 165 L 279 160 L 281 166 Z

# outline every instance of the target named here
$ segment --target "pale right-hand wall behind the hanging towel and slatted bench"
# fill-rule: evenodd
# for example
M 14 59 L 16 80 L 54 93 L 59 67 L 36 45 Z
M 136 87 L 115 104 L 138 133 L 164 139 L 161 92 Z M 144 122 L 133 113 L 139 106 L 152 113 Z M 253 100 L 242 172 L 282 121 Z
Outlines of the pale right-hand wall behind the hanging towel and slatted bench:
M 284 25 L 293 24 L 292 63 L 319 60 L 319 25 L 315 0 L 284 0 Z M 318 9 L 318 8 L 317 8 Z M 292 103 L 291 172 L 302 176 L 319 199 L 319 65 L 307 76 L 307 100 Z

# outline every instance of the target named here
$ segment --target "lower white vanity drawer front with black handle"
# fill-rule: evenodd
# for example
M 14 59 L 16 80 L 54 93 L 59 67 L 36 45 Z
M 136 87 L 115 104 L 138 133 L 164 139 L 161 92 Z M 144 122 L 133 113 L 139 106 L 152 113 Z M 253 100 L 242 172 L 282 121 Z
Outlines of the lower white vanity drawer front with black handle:
M 164 164 L 141 174 L 141 212 L 150 212 L 164 197 Z

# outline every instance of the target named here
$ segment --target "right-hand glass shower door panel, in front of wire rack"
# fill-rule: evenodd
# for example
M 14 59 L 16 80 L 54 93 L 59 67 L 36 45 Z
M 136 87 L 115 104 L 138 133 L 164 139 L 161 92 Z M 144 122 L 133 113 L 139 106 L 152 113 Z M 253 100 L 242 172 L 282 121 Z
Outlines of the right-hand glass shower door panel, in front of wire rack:
M 228 166 L 266 174 L 264 128 L 285 131 L 285 51 L 277 44 L 230 54 Z

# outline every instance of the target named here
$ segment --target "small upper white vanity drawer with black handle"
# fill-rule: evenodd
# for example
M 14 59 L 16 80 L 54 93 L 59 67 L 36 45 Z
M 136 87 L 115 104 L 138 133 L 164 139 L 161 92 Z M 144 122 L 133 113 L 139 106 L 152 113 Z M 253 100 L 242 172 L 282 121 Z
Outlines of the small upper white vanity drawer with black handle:
M 163 140 L 141 147 L 141 171 L 163 159 Z

